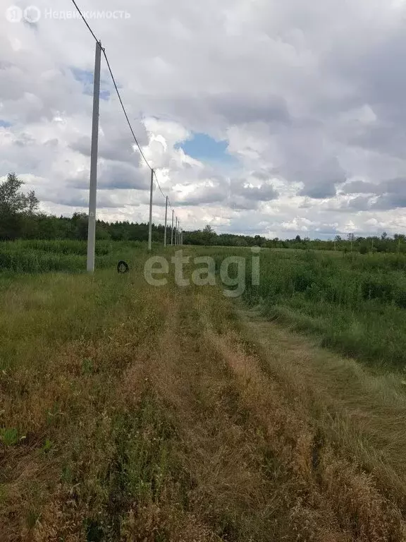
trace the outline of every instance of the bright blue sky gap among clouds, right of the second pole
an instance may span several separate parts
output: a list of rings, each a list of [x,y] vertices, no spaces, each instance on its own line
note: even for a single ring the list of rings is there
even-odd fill
[[[202,162],[235,164],[237,159],[228,154],[227,141],[216,141],[207,133],[193,133],[192,139],[177,143],[176,148],[183,149],[185,154]]]

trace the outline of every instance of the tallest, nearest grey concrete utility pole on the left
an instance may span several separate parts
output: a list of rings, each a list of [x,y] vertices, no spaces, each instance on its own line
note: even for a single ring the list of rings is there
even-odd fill
[[[96,43],[93,83],[92,150],[90,154],[89,218],[87,222],[87,272],[94,272],[94,246],[96,244],[97,205],[97,152],[99,148],[101,42]]]

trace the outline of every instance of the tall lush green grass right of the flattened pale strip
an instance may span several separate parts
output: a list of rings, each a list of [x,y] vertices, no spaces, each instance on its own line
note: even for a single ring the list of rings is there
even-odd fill
[[[219,270],[229,248],[199,248]],[[406,370],[406,257],[395,254],[263,250],[261,279],[252,285],[246,258],[243,301],[321,345],[389,371]]]

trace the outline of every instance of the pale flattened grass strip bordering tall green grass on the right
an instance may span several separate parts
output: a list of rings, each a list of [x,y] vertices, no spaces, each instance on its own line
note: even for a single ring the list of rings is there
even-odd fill
[[[240,311],[240,318],[242,335],[256,345],[264,370],[405,507],[406,395],[400,375],[373,373],[267,323],[255,311]]]

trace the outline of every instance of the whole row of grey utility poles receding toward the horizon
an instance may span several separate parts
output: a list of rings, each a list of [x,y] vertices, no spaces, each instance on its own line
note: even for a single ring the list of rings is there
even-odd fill
[[[90,155],[90,191],[89,191],[89,223],[87,229],[87,272],[94,272],[94,247],[96,244],[96,210],[97,210],[97,153],[99,147],[99,106],[100,106],[100,68],[101,68],[101,42],[96,42],[96,56],[94,61],[93,84],[93,118],[92,118],[92,150]],[[148,164],[149,165],[149,164]],[[151,169],[151,192],[149,195],[149,231],[148,250],[152,250],[152,197],[154,193],[154,169]],[[176,218],[175,227],[173,219]],[[166,247],[168,219],[168,196],[165,206],[165,234]],[[183,230],[178,217],[172,210],[171,245],[183,245]]]

